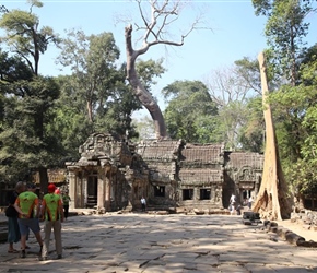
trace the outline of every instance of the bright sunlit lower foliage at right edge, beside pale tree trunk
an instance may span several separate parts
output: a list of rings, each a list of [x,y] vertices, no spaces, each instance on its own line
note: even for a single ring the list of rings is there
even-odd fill
[[[317,61],[304,63],[298,86],[283,86],[270,97],[285,176],[301,193],[317,193]],[[307,84],[308,83],[308,84]]]

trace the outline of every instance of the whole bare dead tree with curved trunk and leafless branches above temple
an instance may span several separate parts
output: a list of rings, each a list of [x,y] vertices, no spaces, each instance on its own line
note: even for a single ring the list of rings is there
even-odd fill
[[[140,15],[144,26],[140,27],[137,25],[137,28],[144,32],[142,38],[142,47],[140,49],[133,49],[132,47],[132,25],[128,25],[125,28],[126,37],[126,52],[127,52],[127,80],[131,84],[136,95],[140,99],[141,104],[149,110],[155,128],[156,139],[167,139],[167,132],[165,127],[165,121],[160,109],[160,106],[152,97],[151,93],[144,87],[136,70],[136,60],[140,55],[145,54],[150,47],[163,44],[167,46],[183,46],[184,39],[197,28],[199,20],[197,20],[186,34],[181,35],[179,41],[173,41],[166,38],[167,32],[166,27],[169,26],[173,22],[178,19],[178,12],[181,8],[181,1],[158,1],[158,0],[149,0],[151,7],[151,14],[146,17],[145,13],[142,10],[141,0],[136,0],[139,5]]]

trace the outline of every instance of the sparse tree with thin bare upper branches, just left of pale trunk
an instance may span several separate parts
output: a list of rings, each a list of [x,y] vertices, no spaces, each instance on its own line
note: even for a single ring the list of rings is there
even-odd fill
[[[213,70],[207,80],[211,97],[219,108],[219,141],[223,141],[228,150],[242,149],[239,140],[250,117],[254,117],[249,115],[247,104],[251,97],[258,95],[259,80],[258,62],[246,57],[230,68]],[[256,135],[258,133],[256,132]],[[247,135],[251,134],[244,133],[245,143]]]

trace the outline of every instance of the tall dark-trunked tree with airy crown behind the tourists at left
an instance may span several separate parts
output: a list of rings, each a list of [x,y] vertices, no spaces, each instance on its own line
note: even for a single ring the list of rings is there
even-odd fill
[[[51,106],[50,98],[56,99],[58,91],[51,79],[39,76],[39,60],[50,43],[58,43],[58,36],[48,26],[39,28],[39,19],[33,13],[33,8],[40,8],[43,3],[38,0],[28,2],[31,3],[28,12],[15,9],[2,14],[0,27],[4,31],[4,36],[1,40],[9,47],[11,54],[19,56],[32,71],[31,82],[16,82],[15,86],[11,86],[11,92],[16,92],[15,95],[26,103],[26,108],[33,106],[25,111],[25,119],[33,120],[34,136],[42,143],[38,147],[47,154],[46,115],[49,111],[48,107]],[[48,183],[48,162],[43,158],[37,163],[40,187],[44,191]]]

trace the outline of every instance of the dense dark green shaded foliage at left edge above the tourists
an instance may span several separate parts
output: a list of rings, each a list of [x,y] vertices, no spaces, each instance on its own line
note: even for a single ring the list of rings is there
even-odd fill
[[[51,119],[49,109],[59,94],[52,79],[21,80],[10,87],[20,90],[23,95],[3,99],[0,177],[7,181],[24,179],[31,169],[51,165],[59,151],[57,139],[46,127]]]

